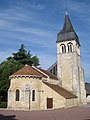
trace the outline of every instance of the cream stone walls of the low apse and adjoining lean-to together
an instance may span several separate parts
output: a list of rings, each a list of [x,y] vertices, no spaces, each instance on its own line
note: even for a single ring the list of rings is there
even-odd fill
[[[51,81],[57,84],[57,81],[50,79],[49,82]],[[16,101],[16,89],[20,91],[19,101]],[[32,90],[35,90],[35,101],[32,101]],[[16,77],[11,79],[8,90],[8,109],[46,110],[47,98],[53,99],[52,109],[76,106],[75,100],[67,100],[39,78]]]

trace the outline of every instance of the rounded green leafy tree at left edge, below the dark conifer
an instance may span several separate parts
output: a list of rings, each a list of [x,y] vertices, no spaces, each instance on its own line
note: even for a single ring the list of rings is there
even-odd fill
[[[9,76],[16,72],[18,69],[23,67],[23,64],[20,64],[13,58],[4,61],[0,64],[0,92],[6,92],[9,88]]]

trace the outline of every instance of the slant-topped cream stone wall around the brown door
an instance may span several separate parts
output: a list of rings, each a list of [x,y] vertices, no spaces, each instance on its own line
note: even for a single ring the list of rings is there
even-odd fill
[[[42,83],[41,109],[47,109],[47,98],[53,98],[53,109],[65,108],[66,99]]]

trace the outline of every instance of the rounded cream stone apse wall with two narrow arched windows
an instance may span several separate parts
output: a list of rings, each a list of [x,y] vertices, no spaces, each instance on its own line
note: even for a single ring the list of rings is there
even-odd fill
[[[41,81],[36,78],[16,77],[11,79],[8,90],[8,108],[10,109],[40,109]],[[16,101],[16,89],[20,90],[20,101]],[[35,101],[32,101],[32,90],[35,90]],[[30,99],[29,99],[30,96]]]

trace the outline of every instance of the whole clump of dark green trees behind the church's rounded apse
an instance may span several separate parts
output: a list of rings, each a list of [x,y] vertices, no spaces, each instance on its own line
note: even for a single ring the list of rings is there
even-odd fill
[[[18,52],[13,53],[13,56],[8,57],[6,61],[0,64],[0,96],[4,95],[3,97],[6,98],[5,95],[7,94],[10,81],[9,76],[22,68],[25,64],[38,66],[39,58],[32,56],[30,50],[27,52],[24,44],[21,44]]]

